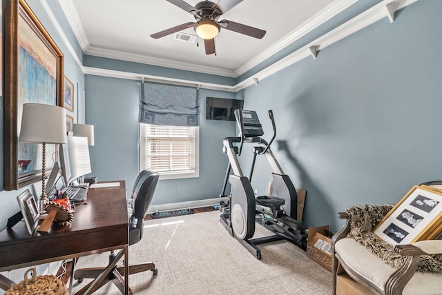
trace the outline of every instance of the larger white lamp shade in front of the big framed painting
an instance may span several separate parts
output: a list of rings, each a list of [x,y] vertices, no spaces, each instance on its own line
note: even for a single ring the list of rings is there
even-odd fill
[[[23,104],[21,143],[66,143],[66,110],[57,105]]]

